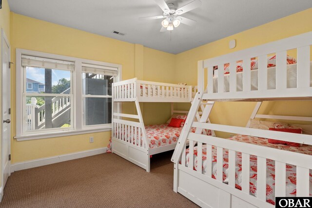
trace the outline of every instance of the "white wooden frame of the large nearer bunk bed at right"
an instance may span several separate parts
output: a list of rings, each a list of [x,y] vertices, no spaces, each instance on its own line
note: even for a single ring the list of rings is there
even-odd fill
[[[236,127],[193,122],[202,100],[256,101],[251,118],[286,119],[312,122],[311,117],[259,115],[260,101],[264,100],[312,100],[310,85],[310,45],[312,32],[287,39],[266,43],[249,49],[237,51],[220,57],[198,62],[198,92],[188,114],[172,157],[174,162],[174,191],[179,192],[201,207],[236,208],[260,207],[273,208],[266,202],[266,159],[275,161],[275,197],[286,195],[286,164],[296,166],[296,196],[309,197],[309,170],[312,169],[312,156],[285,151],[266,146],[226,140],[218,137],[191,133],[191,127],[213,129],[234,134],[243,134],[263,138],[312,145],[312,135],[292,134],[262,129]],[[286,51],[297,49],[297,87],[287,88]],[[276,53],[276,89],[267,89],[267,55]],[[243,91],[236,91],[236,61],[243,60],[244,66],[258,57],[258,90],[251,90],[251,70],[243,70]],[[213,66],[223,69],[230,63],[230,91],[223,92],[224,74],[218,70],[218,92],[213,91]],[[204,91],[204,70],[208,68],[207,91]],[[248,69],[248,67],[246,67]],[[186,143],[189,142],[190,162],[185,166]],[[194,146],[197,143],[197,158],[202,157],[202,146],[207,145],[207,174],[202,168],[193,170]],[[216,179],[212,178],[212,146],[217,147]],[[223,149],[229,150],[228,184],[222,182]],[[210,153],[209,153],[210,152]],[[242,190],[235,188],[235,153],[242,153]],[[257,156],[257,197],[250,195],[250,155]],[[181,164],[179,162],[181,161]],[[183,164],[183,165],[182,165]],[[197,166],[202,166],[198,160]]]

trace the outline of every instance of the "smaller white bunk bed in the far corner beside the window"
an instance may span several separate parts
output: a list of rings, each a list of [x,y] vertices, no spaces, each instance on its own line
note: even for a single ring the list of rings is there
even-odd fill
[[[150,172],[150,157],[154,154],[175,149],[182,127],[168,124],[145,126],[140,102],[172,103],[171,114],[189,111],[174,110],[173,103],[190,103],[196,87],[184,84],[157,83],[137,78],[113,83],[112,152]],[[121,113],[121,102],[134,102],[137,114]],[[209,122],[208,115],[214,102],[200,104],[196,118]],[[196,129],[193,128],[195,132]],[[214,131],[202,131],[215,135]]]

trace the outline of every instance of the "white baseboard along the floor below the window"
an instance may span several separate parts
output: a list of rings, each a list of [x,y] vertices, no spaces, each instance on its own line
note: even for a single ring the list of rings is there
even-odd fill
[[[88,157],[92,155],[98,155],[98,154],[105,153],[106,149],[107,149],[106,147],[103,147],[103,148],[98,148],[98,149],[91,149],[91,150],[64,154],[64,155],[59,155],[59,156],[54,156],[54,157],[40,158],[37,160],[29,160],[29,161],[25,161],[21,163],[15,163],[11,165],[11,172],[33,168],[33,167],[45,166],[45,165],[59,163],[59,162],[68,161],[68,160],[74,160],[74,159]]]

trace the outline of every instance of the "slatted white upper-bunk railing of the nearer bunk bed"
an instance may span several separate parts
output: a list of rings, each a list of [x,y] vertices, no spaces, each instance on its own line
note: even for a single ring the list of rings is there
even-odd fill
[[[312,32],[293,36],[275,42],[255,46],[245,50],[198,62],[198,91],[204,93],[203,99],[266,99],[312,97],[310,72],[310,45]],[[297,84],[295,88],[287,88],[287,50],[297,50]],[[276,54],[276,87],[268,89],[267,56]],[[258,59],[258,87],[251,89],[251,59]],[[236,61],[243,60],[242,91],[236,90]],[[229,92],[224,92],[224,64],[230,64]],[[218,66],[217,90],[214,92],[214,66]],[[208,70],[207,86],[204,86],[205,70]],[[204,89],[207,89],[205,91]]]

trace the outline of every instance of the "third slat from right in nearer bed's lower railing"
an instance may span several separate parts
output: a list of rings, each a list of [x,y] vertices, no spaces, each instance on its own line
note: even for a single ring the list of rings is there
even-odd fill
[[[267,159],[257,157],[257,198],[266,201],[267,198]]]

